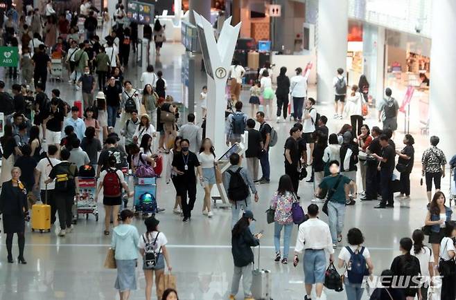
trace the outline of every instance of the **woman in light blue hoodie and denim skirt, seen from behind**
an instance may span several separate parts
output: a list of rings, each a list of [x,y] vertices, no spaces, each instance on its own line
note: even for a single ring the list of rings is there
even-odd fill
[[[122,176],[123,177],[123,176]],[[111,248],[115,252],[117,279],[114,287],[119,290],[121,300],[130,299],[130,290],[136,290],[136,265],[138,259],[138,230],[132,224],[134,212],[121,212],[121,225],[114,227]],[[116,218],[114,218],[116,220]],[[108,221],[109,222],[109,221]]]

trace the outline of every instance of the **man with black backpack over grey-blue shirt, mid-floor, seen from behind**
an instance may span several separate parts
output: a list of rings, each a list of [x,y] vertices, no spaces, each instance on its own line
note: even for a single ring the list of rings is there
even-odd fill
[[[241,209],[244,211],[247,209],[252,210],[249,188],[254,194],[255,202],[258,202],[258,192],[254,182],[247,170],[240,167],[241,162],[238,153],[231,154],[229,156],[229,164],[231,166],[225,171],[223,176],[223,185],[231,203],[231,228],[238,222]]]

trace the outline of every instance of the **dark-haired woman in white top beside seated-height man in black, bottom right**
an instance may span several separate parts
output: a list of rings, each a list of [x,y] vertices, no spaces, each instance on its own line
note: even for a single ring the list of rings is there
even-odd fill
[[[430,247],[423,245],[424,234],[421,229],[416,229],[412,234],[413,252],[411,254],[416,256],[419,260],[421,270],[421,295],[428,295],[428,286],[430,285],[430,278],[434,276],[434,256]],[[425,299],[425,298],[423,298]]]

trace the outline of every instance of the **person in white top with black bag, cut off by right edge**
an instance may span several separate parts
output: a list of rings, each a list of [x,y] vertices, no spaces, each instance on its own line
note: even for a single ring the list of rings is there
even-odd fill
[[[445,227],[445,236],[442,238],[440,242],[440,261],[439,261],[439,270],[444,263],[444,261],[450,261],[451,259],[455,259],[456,249],[455,244],[453,242],[453,238],[456,237],[456,227],[453,221],[446,222]],[[455,262],[453,261],[453,264]],[[441,273],[441,272],[440,272]],[[440,274],[442,275],[442,274]],[[455,285],[456,275],[450,276],[443,276],[441,279],[441,300],[453,300],[456,299],[456,285]]]

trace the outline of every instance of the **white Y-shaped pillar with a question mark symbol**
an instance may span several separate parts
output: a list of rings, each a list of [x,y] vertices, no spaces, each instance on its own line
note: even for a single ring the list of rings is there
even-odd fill
[[[225,86],[227,85],[234,47],[238,40],[240,23],[231,26],[231,17],[226,19],[218,41],[216,41],[211,23],[194,10],[193,15],[207,73],[206,136],[212,140],[218,153],[223,153],[223,149],[226,148],[225,106],[227,100]]]

